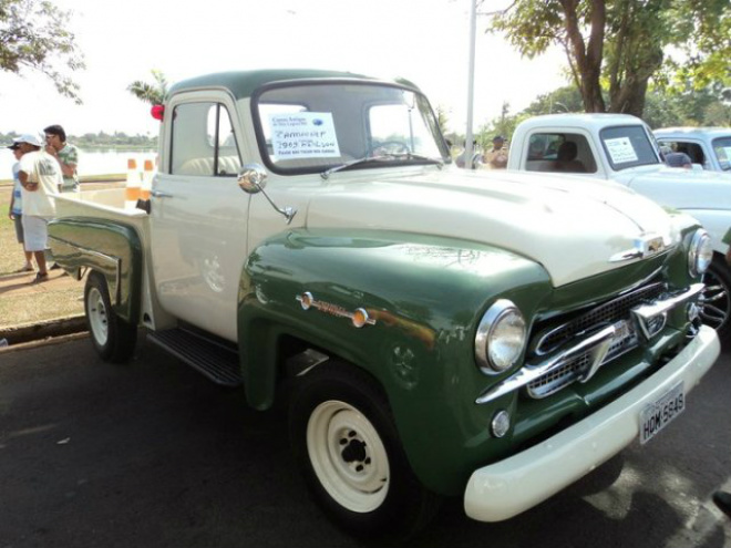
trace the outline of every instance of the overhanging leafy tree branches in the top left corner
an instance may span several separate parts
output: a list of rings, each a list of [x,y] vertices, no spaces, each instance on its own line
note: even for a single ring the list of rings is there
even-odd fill
[[[73,71],[85,68],[69,30],[71,12],[40,0],[0,0],[0,70],[45,74],[62,95],[81,104],[79,85],[63,74],[58,61]]]

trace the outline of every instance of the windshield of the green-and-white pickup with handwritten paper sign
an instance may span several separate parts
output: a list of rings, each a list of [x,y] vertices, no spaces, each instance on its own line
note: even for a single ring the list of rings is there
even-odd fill
[[[369,82],[276,85],[253,97],[259,149],[279,173],[446,162],[434,113],[419,92]],[[354,162],[378,158],[379,162]]]

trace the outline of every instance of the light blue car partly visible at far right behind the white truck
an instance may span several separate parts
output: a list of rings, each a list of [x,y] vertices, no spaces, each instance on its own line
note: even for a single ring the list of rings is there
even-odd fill
[[[656,130],[655,136],[703,169],[731,173],[731,127],[666,127]]]

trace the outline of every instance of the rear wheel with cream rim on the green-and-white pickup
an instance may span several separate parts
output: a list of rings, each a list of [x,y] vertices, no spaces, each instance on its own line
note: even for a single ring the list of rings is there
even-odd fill
[[[91,272],[86,279],[84,311],[92,344],[102,360],[128,361],[137,342],[137,328],[116,316],[106,280],[99,272]]]

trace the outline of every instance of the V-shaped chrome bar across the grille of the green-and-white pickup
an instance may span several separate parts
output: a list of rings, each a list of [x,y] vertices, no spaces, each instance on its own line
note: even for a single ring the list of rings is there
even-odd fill
[[[508,376],[500,384],[496,384],[495,386],[492,386],[491,389],[480,394],[480,396],[475,400],[475,403],[480,405],[490,403],[493,400],[496,400],[509,392],[521,389],[526,384],[535,381],[536,379],[539,379],[540,376],[560,368],[568,360],[572,360],[573,358],[589,350],[595,351],[594,361],[596,361],[597,358],[604,360],[616,332],[617,329],[615,325],[606,327],[601,331],[586,337],[578,343],[568,348],[566,351],[560,352],[558,355],[555,355],[545,362],[538,363],[536,365],[528,364],[522,368],[514,375]],[[598,362],[601,363],[600,360],[598,360]],[[596,372],[596,369],[598,369],[596,363],[593,363],[591,368],[589,368],[589,370],[593,370],[594,372]]]

